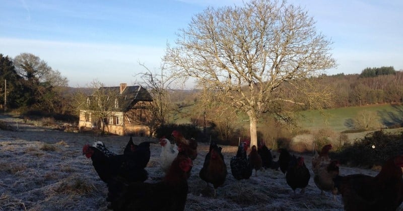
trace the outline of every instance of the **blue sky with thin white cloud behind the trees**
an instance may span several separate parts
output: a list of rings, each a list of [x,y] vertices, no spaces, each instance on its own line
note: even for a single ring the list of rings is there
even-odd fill
[[[54,1],[0,0],[0,53],[32,53],[68,77],[73,87],[94,79],[105,85],[135,83],[139,61],[158,69],[178,29],[208,6],[241,0]],[[366,67],[403,70],[403,1],[293,0],[334,43],[338,67],[328,74]],[[187,88],[191,88],[188,84]]]

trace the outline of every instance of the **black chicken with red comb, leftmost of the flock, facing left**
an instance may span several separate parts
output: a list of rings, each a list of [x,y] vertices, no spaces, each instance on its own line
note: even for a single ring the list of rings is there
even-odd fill
[[[148,178],[148,172],[144,167],[128,155],[107,157],[98,148],[88,144],[84,145],[83,154],[91,158],[99,178],[107,184],[117,176],[128,181],[145,181]]]

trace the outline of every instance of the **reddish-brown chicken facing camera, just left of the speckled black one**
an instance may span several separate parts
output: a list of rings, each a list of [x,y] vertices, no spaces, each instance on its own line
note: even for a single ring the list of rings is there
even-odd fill
[[[221,153],[222,148],[212,141],[210,143],[210,151],[207,153],[203,168],[200,169],[199,176],[201,179],[214,186],[214,196],[216,189],[224,184],[227,178],[227,165],[224,162],[224,156]]]

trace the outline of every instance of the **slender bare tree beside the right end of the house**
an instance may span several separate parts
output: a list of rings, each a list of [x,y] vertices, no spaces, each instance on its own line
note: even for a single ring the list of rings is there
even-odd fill
[[[172,77],[166,75],[166,69],[164,64],[160,67],[160,73],[156,70],[151,71],[144,63],[139,63],[146,69],[146,72],[136,74],[142,79],[143,87],[147,88],[153,97],[151,102],[151,112],[153,119],[149,122],[150,130],[154,134],[155,130],[164,126],[167,121],[167,117],[172,111],[170,89],[173,82]]]

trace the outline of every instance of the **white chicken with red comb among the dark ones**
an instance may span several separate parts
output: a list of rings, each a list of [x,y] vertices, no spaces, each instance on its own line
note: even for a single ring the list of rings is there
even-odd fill
[[[172,161],[178,155],[179,152],[178,146],[171,144],[171,142],[166,138],[160,139],[160,145],[161,145],[161,154],[160,154],[161,169],[165,173],[167,173],[169,167],[172,164]]]

